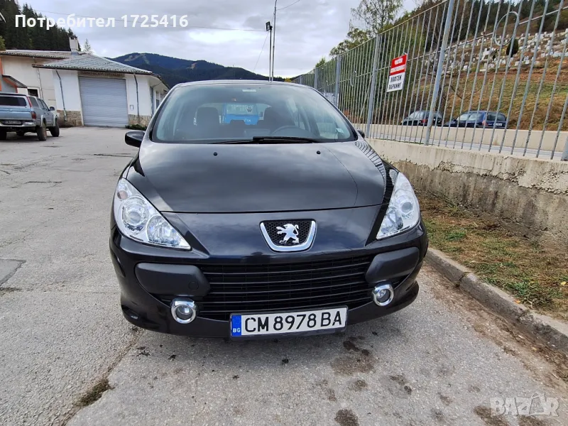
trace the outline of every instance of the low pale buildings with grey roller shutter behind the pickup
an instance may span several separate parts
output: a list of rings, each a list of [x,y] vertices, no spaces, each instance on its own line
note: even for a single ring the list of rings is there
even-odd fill
[[[168,92],[150,71],[76,50],[6,50],[0,61],[1,91],[42,98],[60,124],[146,126]]]

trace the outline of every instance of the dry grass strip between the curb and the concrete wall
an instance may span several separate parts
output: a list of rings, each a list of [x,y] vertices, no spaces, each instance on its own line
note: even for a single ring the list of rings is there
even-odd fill
[[[568,320],[568,254],[540,244],[442,197],[420,193],[432,247],[519,302]]]

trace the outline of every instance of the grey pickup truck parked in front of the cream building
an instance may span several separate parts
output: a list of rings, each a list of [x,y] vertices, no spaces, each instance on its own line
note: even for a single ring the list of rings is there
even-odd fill
[[[43,100],[26,94],[0,94],[0,141],[6,141],[6,133],[15,131],[18,136],[28,132],[38,135],[39,141],[59,136],[58,116],[55,108],[49,108]]]

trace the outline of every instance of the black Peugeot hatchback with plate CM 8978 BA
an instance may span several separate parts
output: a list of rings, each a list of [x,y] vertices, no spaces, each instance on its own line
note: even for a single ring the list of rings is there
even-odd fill
[[[223,119],[228,104],[263,119]],[[110,249],[138,327],[330,333],[417,297],[427,235],[413,188],[315,89],[179,84],[126,143],[139,151],[114,192]]]

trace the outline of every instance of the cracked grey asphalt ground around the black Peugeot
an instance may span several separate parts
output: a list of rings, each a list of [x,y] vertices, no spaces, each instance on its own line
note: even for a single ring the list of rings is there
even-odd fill
[[[133,329],[107,246],[133,148],[121,129],[61,134],[0,142],[1,425],[568,424],[550,354],[427,267],[417,302],[346,334],[226,342]],[[102,398],[78,405],[105,378]],[[490,398],[536,393],[559,398],[559,417],[491,416]]]

